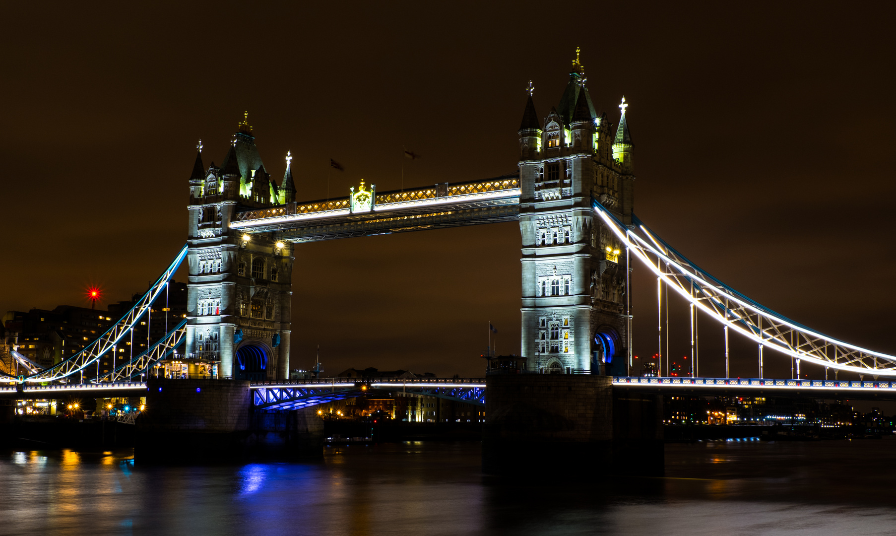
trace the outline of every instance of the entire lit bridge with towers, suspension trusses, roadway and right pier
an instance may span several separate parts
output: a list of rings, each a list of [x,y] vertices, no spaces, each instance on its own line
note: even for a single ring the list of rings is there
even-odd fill
[[[650,419],[657,415],[655,402],[662,393],[774,390],[819,396],[847,393],[853,398],[889,398],[888,393],[896,393],[896,381],[890,381],[896,379],[896,356],[840,341],[762,306],[702,270],[635,215],[634,144],[626,118],[628,103],[621,100],[615,124],[595,110],[577,54],[564,94],[547,116],[538,114],[531,88],[528,91],[517,131],[516,172],[387,192],[362,182],[348,195],[306,202],[296,199],[289,153],[282,179],[273,179],[244,117],[220,166],[214,162],[206,166],[202,143],[197,146],[187,181],[186,245],[159,280],[81,352],[28,376],[7,376],[18,385],[0,389],[0,397],[124,393],[136,388],[149,389],[164,404],[168,402],[160,398],[162,386],[156,392],[152,384],[163,380],[147,378],[166,359],[185,364],[190,374],[200,367],[211,371],[216,380],[197,386],[195,393],[217,393],[219,398],[213,400],[230,404],[231,416],[241,411],[231,402],[242,398],[251,399],[263,413],[357,396],[364,389],[394,389],[396,385],[341,380],[289,381],[292,268],[301,245],[506,221],[517,221],[521,232],[521,356],[527,363],[523,372],[529,374],[489,376],[475,385],[453,385],[449,379],[401,385],[414,393],[487,402],[492,431],[486,439],[493,454],[513,451],[524,458],[558,437],[575,445],[590,445],[595,437],[612,440],[614,456],[626,449],[642,452],[616,440],[643,439],[655,446],[656,423],[650,424]],[[631,376],[633,260],[657,277],[659,291],[665,284],[667,291],[687,302],[693,364],[685,371],[687,377],[668,377],[668,365],[665,371],[660,365],[663,377]],[[142,354],[101,369],[99,359],[124,344],[134,325],[152,321],[152,303],[167,290],[183,261],[189,272],[185,321],[172,326]],[[730,376],[728,334],[754,341],[756,377],[700,376],[694,337],[698,312],[725,332],[726,376]],[[773,359],[789,359],[797,377],[800,362],[807,361],[833,370],[834,379],[765,378],[763,349],[776,350]],[[840,381],[840,370],[855,373],[860,380]],[[225,379],[244,381],[217,381]],[[621,392],[633,394],[614,394]],[[202,411],[202,403],[211,403],[189,396],[193,395],[183,392],[177,400],[198,404],[197,411]],[[545,407],[535,408],[533,401]],[[573,415],[570,404],[589,409]],[[533,415],[540,416],[534,422],[543,429],[521,425]],[[237,417],[233,419],[228,426],[237,426],[233,424]],[[638,432],[625,424],[632,422],[646,428]],[[152,426],[166,425],[157,421]],[[515,441],[529,446],[516,448]],[[504,462],[515,463],[508,460]]]

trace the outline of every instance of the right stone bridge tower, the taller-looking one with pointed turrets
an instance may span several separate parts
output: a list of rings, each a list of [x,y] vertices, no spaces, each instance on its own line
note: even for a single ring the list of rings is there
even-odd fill
[[[543,373],[623,374],[631,346],[625,248],[592,199],[632,223],[633,143],[594,110],[579,50],[563,97],[520,125],[521,353]]]

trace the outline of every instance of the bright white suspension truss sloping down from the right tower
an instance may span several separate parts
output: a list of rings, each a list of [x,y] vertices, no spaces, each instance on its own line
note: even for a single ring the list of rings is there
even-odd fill
[[[705,272],[632,216],[626,227],[598,202],[592,203],[607,227],[625,243],[630,253],[669,288],[720,324],[745,335],[763,347],[823,367],[859,374],[896,376],[896,356],[866,350],[849,342],[818,333],[747,298]]]

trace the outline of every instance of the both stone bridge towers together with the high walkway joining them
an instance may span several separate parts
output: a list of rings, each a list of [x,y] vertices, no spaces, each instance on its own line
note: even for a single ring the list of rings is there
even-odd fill
[[[287,157],[278,185],[247,117],[220,167],[190,176],[185,359],[218,377],[289,377],[293,247],[307,241],[518,221],[521,354],[546,374],[625,372],[631,347],[628,265],[595,218],[601,203],[631,225],[632,141],[622,117],[598,116],[578,56],[563,97],[543,119],[531,90],[519,130],[519,172],[461,183],[297,203]]]

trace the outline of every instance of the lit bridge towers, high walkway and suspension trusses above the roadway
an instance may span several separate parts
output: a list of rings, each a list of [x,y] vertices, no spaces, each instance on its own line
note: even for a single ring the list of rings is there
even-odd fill
[[[547,116],[528,91],[517,136],[517,171],[502,177],[379,192],[363,182],[349,195],[296,199],[292,157],[275,180],[248,117],[221,165],[197,145],[188,179],[187,243],[125,316],[70,359],[15,378],[25,384],[116,383],[145,379],[160,360],[207,365],[212,376],[283,381],[289,376],[292,267],[305,242],[517,221],[521,231],[521,356],[527,372],[628,376],[632,370],[632,260],[728,332],[763,349],[833,371],[896,376],[896,357],[818,333],[745,297],[676,251],[633,212],[634,144],[626,118],[597,113],[577,59]],[[149,320],[151,304],[188,265],[187,316],[138,356],[100,370]],[[694,355],[692,327],[692,357]],[[177,353],[176,353],[177,352]],[[697,359],[685,371],[700,376]],[[23,366],[31,364],[23,363]],[[728,347],[726,345],[726,370]],[[660,373],[663,372],[660,367]],[[666,367],[666,375],[669,370]],[[662,376],[662,374],[660,374]],[[798,375],[797,375],[798,376]]]

